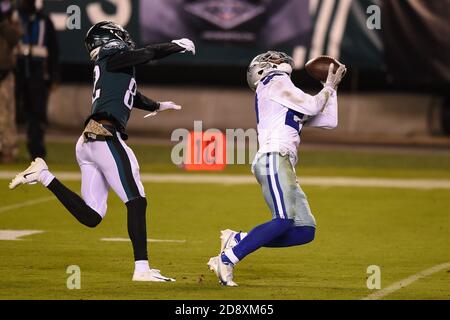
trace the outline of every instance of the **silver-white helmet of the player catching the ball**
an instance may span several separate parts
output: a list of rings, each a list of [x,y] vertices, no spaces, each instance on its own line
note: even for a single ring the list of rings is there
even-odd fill
[[[247,69],[247,83],[256,90],[259,81],[273,71],[281,71],[289,76],[294,68],[294,60],[284,52],[267,51],[257,55]]]

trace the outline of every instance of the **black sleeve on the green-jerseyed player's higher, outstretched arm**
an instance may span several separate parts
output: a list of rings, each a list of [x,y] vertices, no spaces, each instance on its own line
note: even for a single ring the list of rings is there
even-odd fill
[[[108,71],[117,71],[123,68],[145,64],[150,60],[162,59],[183,50],[184,48],[179,45],[169,42],[148,45],[137,50],[121,51],[108,59],[106,68]]]

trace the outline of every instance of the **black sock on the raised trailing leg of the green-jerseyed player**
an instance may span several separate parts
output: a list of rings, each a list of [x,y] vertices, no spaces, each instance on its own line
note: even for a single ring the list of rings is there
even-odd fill
[[[46,177],[49,178],[50,176],[44,175],[43,179],[46,179]],[[40,177],[39,181],[41,181]],[[97,211],[89,207],[79,195],[68,189],[55,177],[53,177],[47,188],[53,192],[63,206],[85,226],[94,228],[102,221],[102,217]]]

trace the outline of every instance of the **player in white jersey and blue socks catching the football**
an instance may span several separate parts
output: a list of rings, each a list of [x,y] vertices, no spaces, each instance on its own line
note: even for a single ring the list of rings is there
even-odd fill
[[[291,81],[293,60],[283,52],[268,51],[253,59],[247,70],[256,91],[255,111],[259,150],[252,172],[261,185],[272,220],[248,233],[221,232],[221,252],[209,268],[223,285],[236,286],[234,266],[261,247],[290,247],[314,239],[316,221],[295,174],[300,132],[304,126],[337,126],[336,89],[346,73],[344,65],[330,65],[323,89],[306,94]]]

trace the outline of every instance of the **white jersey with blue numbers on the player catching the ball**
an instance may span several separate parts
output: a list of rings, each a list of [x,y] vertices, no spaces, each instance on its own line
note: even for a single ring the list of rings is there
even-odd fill
[[[256,158],[280,152],[289,154],[295,165],[303,126],[325,129],[337,126],[336,91],[325,87],[311,96],[297,88],[288,74],[275,71],[259,82],[255,111],[259,143]]]

